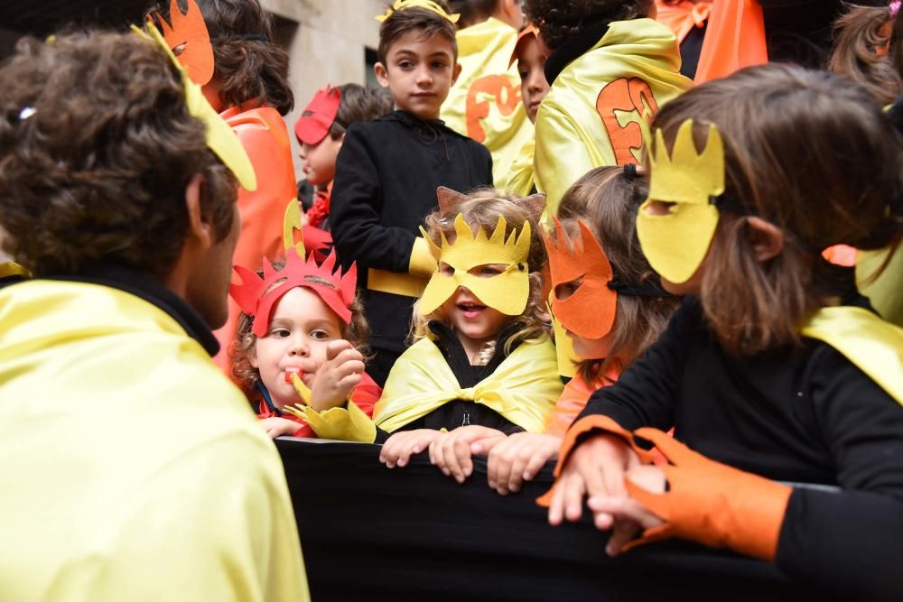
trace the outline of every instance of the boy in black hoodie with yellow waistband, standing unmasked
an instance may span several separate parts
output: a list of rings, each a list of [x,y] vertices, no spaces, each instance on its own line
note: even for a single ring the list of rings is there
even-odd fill
[[[358,262],[372,329],[368,374],[386,381],[405,349],[414,299],[435,269],[418,228],[436,189],[492,185],[489,151],[439,120],[461,71],[454,21],[431,0],[401,0],[379,30],[377,79],[397,110],[349,127],[336,162],[332,235],[342,261]]]

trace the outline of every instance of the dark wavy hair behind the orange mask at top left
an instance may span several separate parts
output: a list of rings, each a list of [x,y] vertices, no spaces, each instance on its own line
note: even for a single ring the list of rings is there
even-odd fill
[[[288,82],[288,53],[274,40],[272,17],[257,0],[195,0],[213,46],[213,78],[222,85],[226,107],[254,100],[286,115],[294,106]],[[184,2],[179,3],[182,10]],[[170,22],[170,0],[158,0],[147,14]],[[259,36],[254,39],[247,36]]]

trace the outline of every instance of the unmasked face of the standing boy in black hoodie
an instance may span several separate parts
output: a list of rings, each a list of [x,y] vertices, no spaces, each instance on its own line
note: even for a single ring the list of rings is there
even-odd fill
[[[380,85],[389,88],[396,107],[428,120],[438,119],[461,65],[452,42],[442,35],[424,40],[423,32],[405,32],[386,53],[386,64],[374,68]]]

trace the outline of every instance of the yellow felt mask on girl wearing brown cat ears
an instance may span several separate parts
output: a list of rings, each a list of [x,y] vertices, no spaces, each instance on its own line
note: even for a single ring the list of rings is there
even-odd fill
[[[507,316],[524,313],[530,292],[530,270],[526,264],[530,252],[530,223],[524,223],[519,236],[517,232],[512,232],[507,240],[506,227],[505,218],[498,216],[498,225],[492,236],[487,236],[483,228],[479,228],[474,236],[459,213],[454,220],[454,243],[449,244],[443,233],[441,248],[434,245],[424,232],[424,237],[430,241],[433,256],[440,264],[447,264],[453,270],[452,273],[442,273],[437,268],[433,272],[420,299],[420,312],[424,316],[439,309],[459,286],[476,295],[481,303]],[[489,264],[503,264],[507,267],[504,272],[489,277],[470,273],[479,265]]]

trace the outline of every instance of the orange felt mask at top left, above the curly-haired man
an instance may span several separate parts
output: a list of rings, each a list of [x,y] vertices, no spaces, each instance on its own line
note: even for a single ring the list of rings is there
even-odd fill
[[[170,23],[166,23],[163,15],[156,14],[156,21],[163,32],[163,39],[173,52],[184,45],[182,52],[176,57],[182,67],[188,71],[188,77],[199,86],[206,86],[213,79],[213,46],[210,45],[210,34],[204,15],[194,0],[185,0],[187,8],[182,14],[177,0],[170,2]],[[148,17],[152,18],[152,17]]]

